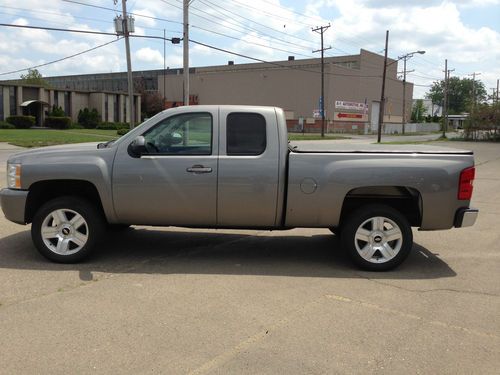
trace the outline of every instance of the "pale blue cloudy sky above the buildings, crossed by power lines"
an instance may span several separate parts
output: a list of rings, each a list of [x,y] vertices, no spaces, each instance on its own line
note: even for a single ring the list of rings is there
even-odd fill
[[[0,22],[113,32],[113,18],[121,1],[75,0],[111,10],[63,0],[0,0]],[[136,34],[181,36],[181,0],[128,0],[135,14]],[[154,18],[160,18],[154,19]],[[168,22],[168,21],[171,22]],[[481,73],[488,92],[500,78],[500,0],[194,0],[191,3],[191,39],[263,60],[318,56],[319,35],[311,31],[331,24],[325,44],[327,55],[357,54],[361,48],[382,52],[385,30],[390,30],[389,56],[415,50],[408,61],[414,69],[408,80],[414,97],[422,97],[433,81],[444,75],[444,60],[454,75]],[[0,26],[0,74],[32,67],[111,42],[113,36],[96,36],[12,29]],[[44,76],[116,72],[126,69],[123,41],[38,68]],[[133,38],[134,70],[163,68],[163,42]],[[167,44],[166,65],[182,66],[182,45]],[[250,60],[191,45],[192,66]],[[17,78],[22,73],[0,75]]]

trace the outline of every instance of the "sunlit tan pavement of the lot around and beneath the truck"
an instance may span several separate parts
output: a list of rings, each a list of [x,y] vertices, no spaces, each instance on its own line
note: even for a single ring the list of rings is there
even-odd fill
[[[1,215],[0,373],[498,374],[500,145],[446,146],[476,153],[478,221],[387,273],[312,229],[135,227],[59,265]]]

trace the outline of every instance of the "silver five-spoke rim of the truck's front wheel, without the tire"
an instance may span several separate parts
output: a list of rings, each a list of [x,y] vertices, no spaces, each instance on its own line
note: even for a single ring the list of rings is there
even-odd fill
[[[77,253],[89,239],[89,226],[83,216],[65,208],[50,212],[40,232],[47,249],[59,255]]]

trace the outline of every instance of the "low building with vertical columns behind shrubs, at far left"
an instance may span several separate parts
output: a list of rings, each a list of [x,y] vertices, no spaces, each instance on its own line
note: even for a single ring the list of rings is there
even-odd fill
[[[42,126],[53,106],[61,107],[74,122],[81,109],[96,109],[101,121],[129,122],[128,95],[124,93],[58,90],[13,81],[0,82],[0,121],[13,115],[31,115]],[[140,122],[141,100],[134,95],[135,122]]]

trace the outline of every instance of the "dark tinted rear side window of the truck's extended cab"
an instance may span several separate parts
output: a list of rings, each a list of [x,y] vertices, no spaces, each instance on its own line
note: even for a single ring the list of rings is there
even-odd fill
[[[260,155],[266,149],[266,120],[258,113],[227,116],[227,155]]]

